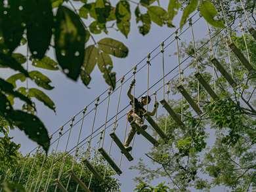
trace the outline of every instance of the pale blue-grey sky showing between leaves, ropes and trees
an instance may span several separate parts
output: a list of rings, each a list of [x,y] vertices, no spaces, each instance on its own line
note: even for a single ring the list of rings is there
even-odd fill
[[[75,3],[75,7],[79,7],[79,3]],[[166,6],[166,5],[164,5]],[[135,9],[135,5],[131,4],[131,10],[133,11]],[[175,18],[174,24],[176,26],[179,26],[179,19],[181,18],[181,12],[179,15]],[[193,18],[193,22],[199,19],[198,15],[196,15]],[[187,25],[184,27],[186,29]],[[95,35],[96,41],[99,39],[102,39],[104,37],[112,37],[114,39],[117,39],[121,42],[123,42],[128,48],[129,48],[129,55],[127,58],[119,59],[112,57],[114,61],[114,71],[117,73],[117,79],[123,77],[123,75],[129,71],[129,69],[132,69],[135,64],[140,62],[142,58],[147,56],[148,52],[153,50],[154,48],[158,47],[158,45],[161,44],[161,42],[166,39],[166,37],[169,37],[174,31],[176,31],[176,28],[166,28],[166,27],[159,27],[156,26],[156,24],[152,24],[152,28],[150,30],[150,33],[146,36],[142,36],[139,33],[139,29],[137,28],[135,18],[133,17],[131,20],[131,32],[129,34],[128,39],[125,39],[125,37],[119,33],[119,31],[110,30],[110,33],[108,35]],[[179,31],[180,32],[180,31]],[[207,37],[207,28],[205,22],[202,20],[202,18],[196,22],[194,25],[194,34],[196,39],[201,39],[204,37]],[[177,60],[177,45],[175,41],[175,36],[171,36],[171,38],[167,39],[165,46],[168,45],[168,47],[165,49],[164,56],[156,54],[161,50],[160,47],[158,47],[155,52],[152,53],[152,57],[156,56],[154,60],[151,62],[150,70],[149,70],[149,85],[154,85],[154,83],[158,82],[161,77],[163,77],[163,69],[162,69],[162,60],[164,58],[165,62],[165,74],[169,73],[172,69],[174,69],[169,75],[165,77],[165,83],[171,79],[172,77],[175,77],[175,75],[178,74],[178,60]],[[181,37],[182,41],[189,42],[192,38],[192,33],[190,29],[185,31]],[[90,43],[89,43],[90,44]],[[23,54],[26,54],[26,47],[22,47],[17,50],[17,52],[22,52]],[[47,53],[48,56],[54,58],[53,50],[49,50]],[[186,64],[189,63],[190,60],[187,60],[182,65],[186,66]],[[138,69],[146,64],[146,60],[143,60],[143,62],[139,65]],[[183,67],[182,66],[182,67]],[[176,67],[176,68],[175,68]],[[30,65],[30,70],[35,69]],[[37,68],[38,69],[38,68]],[[52,85],[54,86],[54,89],[51,91],[45,90],[45,93],[47,93],[52,100],[55,103],[56,106],[56,114],[48,109],[47,107],[43,106],[43,104],[36,102],[37,105],[37,115],[40,117],[40,119],[45,123],[45,126],[49,130],[49,134],[54,132],[57,128],[60,128],[60,126],[64,125],[67,121],[69,121],[77,112],[81,111],[81,109],[84,109],[85,106],[87,106],[89,103],[91,103],[93,100],[95,100],[96,96],[98,96],[100,93],[102,93],[104,90],[108,88],[108,85],[104,82],[104,79],[102,77],[102,74],[98,70],[97,67],[95,67],[93,73],[91,74],[92,81],[89,85],[90,88],[87,88],[81,83],[81,81],[74,82],[64,75],[64,73],[60,71],[47,71],[44,69],[40,69],[43,73],[47,74],[47,76],[53,81]],[[191,70],[188,71],[188,73],[191,73]],[[1,74],[3,77],[8,77],[12,74],[12,71],[6,71],[5,74]],[[129,73],[127,76],[125,76],[125,80],[127,80],[127,83],[123,85],[122,92],[121,92],[121,102],[119,106],[119,111],[123,109],[123,111],[117,116],[117,118],[121,117],[122,115],[125,115],[125,113],[128,111],[129,108],[125,108],[127,104],[129,104],[129,100],[126,96],[127,90],[129,88],[129,84],[131,83],[131,79],[128,79],[131,77],[131,73]],[[147,89],[147,66],[143,67],[137,74],[136,74],[136,85],[135,85],[135,95],[140,96],[140,94],[143,94],[143,92]],[[23,85],[24,83],[19,83],[19,85]],[[117,83],[117,87],[120,84]],[[156,90],[160,89],[163,85],[163,81],[161,80],[160,83],[158,83],[156,86],[151,88],[149,90],[149,94],[153,94]],[[35,85],[32,82],[29,82],[29,87],[34,87]],[[166,89],[166,87],[165,87]],[[107,119],[112,119],[110,123],[107,124],[107,126],[110,126],[106,130],[106,137],[104,142],[104,149],[106,151],[110,147],[111,138],[109,136],[111,129],[113,126],[111,126],[111,123],[114,122],[116,111],[117,111],[117,101],[119,97],[119,89],[117,89],[111,96],[110,96],[110,108]],[[163,99],[163,91],[160,89],[157,94],[158,101]],[[104,100],[106,98],[107,94],[104,94],[100,97],[100,104],[97,109],[96,113],[96,121],[94,130],[97,130],[100,128],[102,130],[102,125],[104,125],[105,119],[106,119],[106,106],[107,106],[107,100]],[[178,96],[179,97],[179,96]],[[154,100],[154,98],[152,98]],[[90,111],[93,109],[93,105],[88,107],[87,111]],[[152,110],[153,104],[150,104],[148,106],[149,110]],[[124,109],[125,108],[125,109]],[[91,130],[93,127],[93,119],[94,119],[94,113],[95,111],[89,113],[84,119],[83,123],[83,130],[81,134],[81,140],[84,138],[87,138],[91,134]],[[165,111],[160,107],[158,111],[158,115],[165,114]],[[68,143],[67,151],[72,149],[75,144],[77,143],[79,128],[81,126],[81,113],[75,117],[75,123],[77,123],[72,128],[72,133],[70,137],[70,142]],[[64,130],[67,130],[69,128],[69,124],[64,126]],[[125,125],[126,120],[125,117],[123,117],[120,121],[117,122],[117,136],[121,140],[123,140],[124,132],[125,132]],[[104,126],[103,126],[104,127]],[[129,128],[129,127],[128,127]],[[60,140],[60,145],[58,147],[58,151],[64,151],[67,141],[67,135],[64,135]],[[21,132],[20,130],[12,130],[11,136],[14,137],[14,142],[21,144],[20,151],[24,154],[29,153],[32,149],[34,149],[37,145],[29,140],[24,132]],[[53,137],[53,140],[56,139],[56,135]],[[81,141],[80,140],[80,141]],[[93,146],[97,147],[98,142],[98,136],[96,136],[93,139]],[[84,144],[84,143],[82,143]],[[54,149],[56,145],[54,144],[53,147],[51,147],[50,151]],[[145,159],[146,162],[148,162],[149,166],[158,166],[150,163],[149,159],[144,155],[147,151],[150,150],[152,147],[151,144],[148,143],[142,136],[136,136],[135,138],[135,144],[133,147],[133,157],[134,161],[128,162],[126,159],[123,159],[123,162],[121,164],[121,169],[123,170],[123,174],[121,176],[117,176],[119,181],[121,182],[121,191],[128,192],[131,191],[131,189],[135,188],[136,183],[133,182],[133,178],[137,175],[137,172],[135,170],[129,170],[129,167],[136,165],[140,158]],[[82,149],[82,148],[81,148]],[[120,159],[120,151],[116,147],[116,145],[113,145],[112,147],[112,153],[111,157],[119,163]],[[156,180],[153,182],[153,184],[156,184],[158,182],[164,181],[160,178],[160,180]]]

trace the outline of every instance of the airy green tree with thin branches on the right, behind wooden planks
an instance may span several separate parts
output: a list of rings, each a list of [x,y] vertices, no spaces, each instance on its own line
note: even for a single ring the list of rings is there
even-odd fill
[[[243,36],[232,36],[240,50],[246,54]],[[245,35],[251,65],[256,69],[255,39]],[[204,41],[197,42],[202,45]],[[215,42],[214,42],[215,43]],[[203,52],[203,51],[202,51]],[[192,43],[183,44],[181,55],[194,53]],[[199,53],[198,53],[199,54]],[[211,52],[203,53],[198,58],[200,73],[214,87],[213,75],[209,73]],[[226,47],[218,43],[215,56],[221,64],[229,69],[226,63]],[[158,125],[167,130],[168,144],[152,148],[136,168],[140,175],[138,182],[150,183],[156,178],[165,178],[170,190],[190,191],[203,189],[208,191],[214,187],[226,186],[230,191],[253,191],[256,189],[256,98],[255,71],[247,71],[231,54],[233,77],[238,83],[234,90],[226,83],[224,77],[217,75],[216,92],[219,99],[213,100],[200,85],[200,106],[203,115],[192,113],[188,103],[183,100],[169,100],[169,104],[181,115],[184,127],[177,125],[171,116],[162,115]],[[195,67],[195,62],[192,67]],[[177,94],[178,81],[172,83],[173,94]],[[184,87],[197,102],[198,81],[194,74],[184,77]],[[166,123],[166,124],[165,124]],[[148,166],[148,160],[159,165],[156,169]],[[146,184],[145,184],[146,185]]]

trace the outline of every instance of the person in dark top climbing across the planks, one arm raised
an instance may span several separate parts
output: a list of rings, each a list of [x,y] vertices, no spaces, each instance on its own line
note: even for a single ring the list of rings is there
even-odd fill
[[[144,115],[144,113],[147,112],[148,115],[154,116],[156,114],[156,110],[158,109],[159,104],[158,104],[158,102],[155,102],[154,109],[152,112],[146,111],[146,109],[144,109],[144,106],[146,106],[147,104],[150,104],[151,98],[150,98],[150,96],[142,96],[141,100],[139,102],[139,100],[131,94],[131,90],[133,89],[134,85],[135,85],[135,80],[133,80],[131,82],[131,85],[127,92],[127,96],[131,100],[130,105],[133,107],[133,109],[131,109],[127,113],[127,120],[129,121],[129,123],[131,123],[132,121],[135,121],[135,123],[137,123],[137,125],[139,125],[142,129],[146,130],[146,128],[148,128],[148,126],[144,125],[143,115]],[[134,104],[133,104],[133,102],[134,102]],[[131,130],[129,131],[129,134],[128,134],[128,136],[125,140],[125,144],[124,144],[127,151],[131,151],[131,149],[132,149],[132,147],[129,145],[131,144],[131,141],[133,140],[133,137],[135,136],[136,132],[137,132],[137,130],[135,130],[135,128],[133,126],[131,126]]]

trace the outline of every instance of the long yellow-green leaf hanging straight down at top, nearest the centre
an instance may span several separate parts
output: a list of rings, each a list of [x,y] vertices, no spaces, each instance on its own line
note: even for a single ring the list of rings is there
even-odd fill
[[[116,5],[116,22],[117,28],[128,37],[130,32],[130,20],[131,20],[131,10],[130,5],[127,1],[119,1]]]

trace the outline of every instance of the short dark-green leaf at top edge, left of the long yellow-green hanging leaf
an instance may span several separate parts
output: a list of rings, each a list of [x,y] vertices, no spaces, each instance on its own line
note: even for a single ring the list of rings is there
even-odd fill
[[[105,24],[108,16],[110,16],[111,9],[112,7],[108,1],[96,0],[95,12],[97,17],[97,22],[100,24]]]

